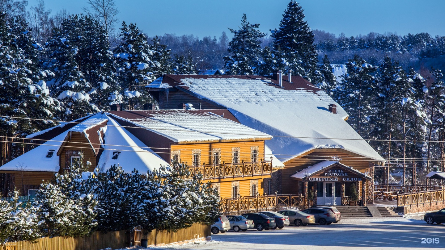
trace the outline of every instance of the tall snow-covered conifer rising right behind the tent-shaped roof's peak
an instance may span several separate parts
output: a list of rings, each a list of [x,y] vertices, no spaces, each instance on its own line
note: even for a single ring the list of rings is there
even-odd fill
[[[122,92],[121,96],[111,98],[113,103],[124,103],[125,109],[139,109],[144,103],[152,102],[145,85],[156,79],[154,71],[158,70],[150,60],[153,52],[147,42],[147,37],[136,24],[127,25],[122,22],[120,43],[113,49]],[[122,100],[119,97],[123,97]]]

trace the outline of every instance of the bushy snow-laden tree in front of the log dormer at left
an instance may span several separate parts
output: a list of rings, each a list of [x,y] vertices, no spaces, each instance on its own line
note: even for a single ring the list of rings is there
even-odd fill
[[[97,195],[93,173],[86,172],[83,156],[68,172],[56,173],[50,183],[36,192],[34,206],[39,208],[40,230],[46,236],[88,235],[97,226]]]

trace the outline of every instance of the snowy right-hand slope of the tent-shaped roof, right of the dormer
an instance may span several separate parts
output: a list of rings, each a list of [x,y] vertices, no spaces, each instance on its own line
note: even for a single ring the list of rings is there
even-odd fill
[[[120,165],[126,173],[131,173],[134,169],[147,173],[159,169],[161,165],[170,166],[133,134],[119,127],[112,118],[109,118],[107,125],[103,145],[105,150],[98,162],[101,172],[105,172],[112,165]]]

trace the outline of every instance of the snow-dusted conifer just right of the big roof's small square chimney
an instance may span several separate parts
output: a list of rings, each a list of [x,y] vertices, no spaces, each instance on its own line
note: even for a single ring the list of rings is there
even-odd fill
[[[342,83],[332,89],[334,100],[348,112],[349,125],[366,137],[371,130],[368,117],[373,113],[370,105],[376,85],[373,76],[376,67],[356,55],[348,61],[346,68],[348,73],[343,76]]]

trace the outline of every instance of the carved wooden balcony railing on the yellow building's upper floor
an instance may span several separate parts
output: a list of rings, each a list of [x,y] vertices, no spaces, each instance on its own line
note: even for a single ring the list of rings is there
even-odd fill
[[[205,180],[269,175],[272,172],[270,161],[224,163],[218,165],[189,166],[192,175],[201,173]]]

